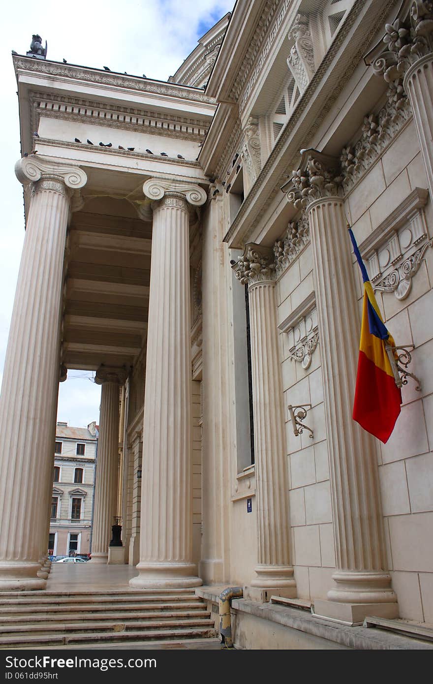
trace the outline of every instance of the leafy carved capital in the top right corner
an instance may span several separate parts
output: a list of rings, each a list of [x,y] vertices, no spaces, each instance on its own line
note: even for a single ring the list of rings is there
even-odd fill
[[[406,0],[393,23],[385,25],[382,40],[365,56],[365,62],[392,83],[402,79],[412,64],[432,51],[432,0]]]

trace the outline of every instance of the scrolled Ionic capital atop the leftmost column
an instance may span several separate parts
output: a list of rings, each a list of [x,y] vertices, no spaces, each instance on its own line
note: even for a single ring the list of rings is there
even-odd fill
[[[79,189],[87,183],[87,174],[79,166],[66,166],[35,155],[18,159],[15,175],[23,185],[34,183],[35,190],[55,190],[63,194],[68,194],[67,188]]]

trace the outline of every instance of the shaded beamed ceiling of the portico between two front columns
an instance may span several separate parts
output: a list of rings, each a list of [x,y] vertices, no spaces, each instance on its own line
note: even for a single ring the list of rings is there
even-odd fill
[[[73,214],[66,252],[63,363],[133,365],[146,343],[152,225],[126,200],[93,198]]]

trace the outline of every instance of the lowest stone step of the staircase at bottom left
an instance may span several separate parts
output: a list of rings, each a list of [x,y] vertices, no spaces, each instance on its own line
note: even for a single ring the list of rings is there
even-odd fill
[[[206,639],[215,637],[213,627],[185,627],[183,629],[157,629],[153,631],[123,631],[123,632],[90,632],[70,635],[39,635],[0,637],[0,648],[32,648],[34,646],[62,646],[75,644],[91,646],[92,644],[109,644],[115,646],[124,642],[171,641],[179,639]]]

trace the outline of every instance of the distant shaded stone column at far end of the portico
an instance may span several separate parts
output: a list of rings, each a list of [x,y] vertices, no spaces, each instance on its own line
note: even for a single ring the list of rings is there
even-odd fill
[[[123,368],[100,366],[96,384],[101,384],[98,456],[96,458],[92,563],[107,563],[111,525],[117,515],[119,456],[119,389],[127,379]]]

